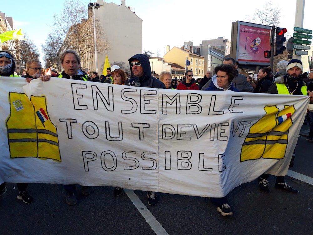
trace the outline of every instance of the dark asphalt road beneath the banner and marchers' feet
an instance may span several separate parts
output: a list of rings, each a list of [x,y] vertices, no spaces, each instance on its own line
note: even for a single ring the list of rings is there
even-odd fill
[[[296,147],[293,172],[313,180],[313,143],[305,140],[307,126]],[[0,198],[0,234],[313,234],[313,185],[285,177],[298,189],[292,194],[274,188],[259,190],[256,180],[227,196],[233,216],[221,216],[208,198],[159,193],[156,206],[143,191],[113,196],[112,187],[91,187],[78,203],[65,203],[63,185],[29,184],[32,204],[16,199],[16,184]],[[133,194],[134,192],[135,194]]]

